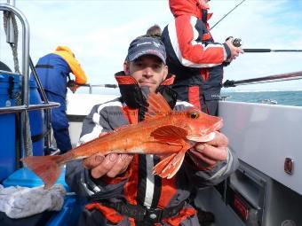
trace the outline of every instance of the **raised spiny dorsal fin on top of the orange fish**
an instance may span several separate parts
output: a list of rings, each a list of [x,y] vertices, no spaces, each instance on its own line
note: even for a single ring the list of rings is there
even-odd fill
[[[154,120],[171,113],[171,107],[160,93],[150,93],[147,99],[148,107],[145,113],[145,121]]]

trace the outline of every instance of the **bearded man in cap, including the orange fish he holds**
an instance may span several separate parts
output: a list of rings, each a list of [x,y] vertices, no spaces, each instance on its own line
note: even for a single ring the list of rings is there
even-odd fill
[[[165,58],[159,39],[135,39],[115,74],[122,97],[91,109],[81,145],[23,160],[45,188],[68,163],[68,185],[89,199],[78,225],[198,226],[190,192],[234,172],[222,120],[177,100]]]

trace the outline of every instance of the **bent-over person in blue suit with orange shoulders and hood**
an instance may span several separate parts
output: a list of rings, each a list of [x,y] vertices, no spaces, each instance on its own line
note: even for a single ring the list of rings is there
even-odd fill
[[[52,130],[60,153],[68,152],[72,148],[66,114],[68,88],[76,92],[78,85],[87,82],[87,77],[67,46],[58,46],[53,53],[39,58],[36,72],[48,100],[60,103],[60,107],[52,108]],[[76,81],[70,79],[70,73],[76,76]]]

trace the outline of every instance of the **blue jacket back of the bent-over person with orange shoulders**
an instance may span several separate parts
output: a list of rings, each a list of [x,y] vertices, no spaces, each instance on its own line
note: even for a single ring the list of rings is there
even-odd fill
[[[39,65],[49,65],[53,68],[38,67]],[[52,93],[66,98],[68,92],[68,74],[71,73],[71,70],[65,59],[57,54],[50,53],[39,58],[36,66],[36,72],[44,90],[51,91]]]

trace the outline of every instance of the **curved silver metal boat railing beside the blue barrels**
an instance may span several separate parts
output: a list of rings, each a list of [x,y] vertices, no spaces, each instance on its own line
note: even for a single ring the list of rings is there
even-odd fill
[[[10,3],[10,1],[8,1]],[[14,4],[14,1],[12,1],[12,4]],[[0,107],[0,114],[1,113],[20,113],[20,118],[22,121],[22,124],[20,125],[20,133],[22,135],[20,136],[20,147],[21,150],[25,150],[25,147],[28,146],[28,141],[26,137],[28,137],[28,131],[26,129],[26,125],[28,123],[28,111],[38,110],[38,109],[47,109],[46,110],[46,124],[47,129],[50,125],[50,108],[52,107],[58,107],[60,106],[59,103],[54,102],[48,102],[47,97],[44,95],[44,89],[41,85],[41,82],[39,81],[37,75],[35,74],[36,70],[35,67],[32,64],[32,61],[29,56],[29,26],[28,26],[28,20],[24,16],[22,12],[20,12],[19,9],[14,7],[14,5],[11,4],[0,4],[0,11],[3,12],[9,12],[10,15],[15,15],[19,20],[20,24],[22,26],[22,69],[20,75],[22,75],[22,95],[21,95],[21,105],[15,105],[15,106],[5,106]],[[9,23],[10,21],[8,21]],[[12,21],[11,21],[12,22]],[[7,43],[12,42],[12,24],[8,26],[8,32],[7,32]],[[29,105],[29,66],[31,66],[31,70],[33,71],[36,83],[38,85],[38,88],[40,90],[40,93],[42,93],[42,97],[44,98],[44,104],[37,104],[37,105]],[[48,133],[46,135],[46,148],[50,147],[50,140],[51,135]]]

